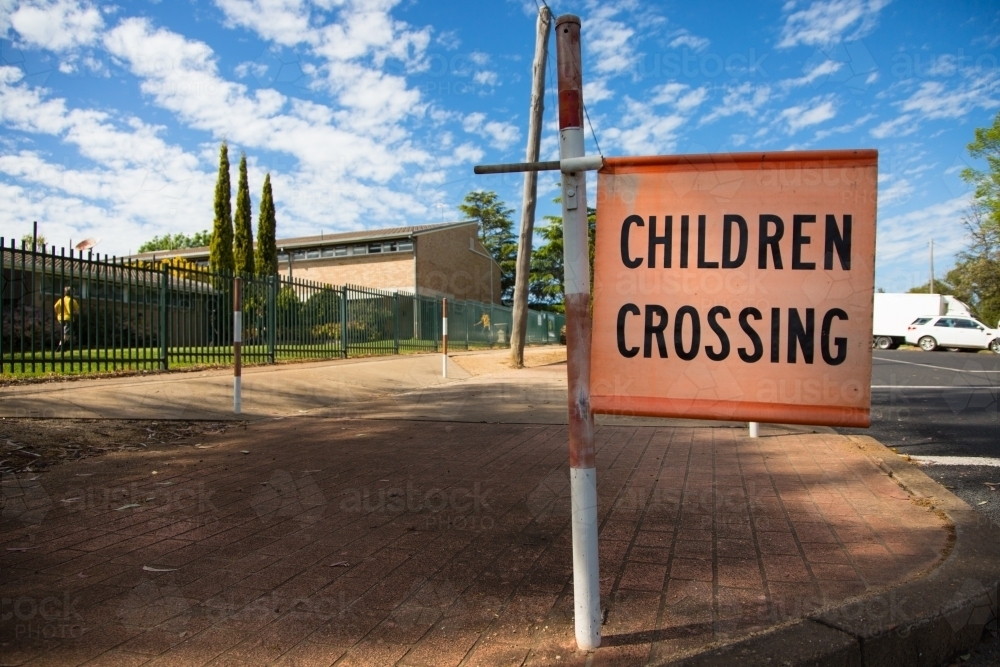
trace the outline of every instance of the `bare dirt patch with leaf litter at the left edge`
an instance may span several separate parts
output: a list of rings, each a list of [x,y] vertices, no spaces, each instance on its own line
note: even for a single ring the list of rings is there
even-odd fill
[[[43,472],[108,452],[190,445],[246,422],[128,419],[0,419],[0,473]]]

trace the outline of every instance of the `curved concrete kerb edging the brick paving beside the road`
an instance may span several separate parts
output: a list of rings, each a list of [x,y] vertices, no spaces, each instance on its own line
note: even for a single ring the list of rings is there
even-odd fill
[[[998,615],[1000,527],[874,438],[848,439],[914,498],[947,515],[955,542],[944,562],[920,579],[660,664],[938,667],[979,642]]]

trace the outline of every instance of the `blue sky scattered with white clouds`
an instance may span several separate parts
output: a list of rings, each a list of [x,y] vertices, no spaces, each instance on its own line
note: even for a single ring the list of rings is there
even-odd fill
[[[1000,109],[995,3],[550,6],[583,20],[605,155],[877,148],[876,284],[926,282],[931,236],[938,275],[951,266],[965,145]],[[234,190],[247,154],[255,223],[270,172],[279,236],[457,219],[477,188],[519,209],[520,176],[472,166],[524,157],[535,13],[534,0],[0,0],[0,234],[38,220],[57,245],[93,236],[124,254],[209,228],[223,139]],[[557,150],[552,64],[543,159]],[[539,215],[556,212],[555,176],[539,189]]]

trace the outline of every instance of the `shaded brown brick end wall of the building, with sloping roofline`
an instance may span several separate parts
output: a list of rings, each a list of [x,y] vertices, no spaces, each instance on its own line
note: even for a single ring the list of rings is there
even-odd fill
[[[417,250],[417,291],[429,296],[500,302],[500,267],[488,257],[469,250],[469,239],[481,253],[478,225],[465,225],[414,240]],[[493,295],[490,296],[490,273]]]

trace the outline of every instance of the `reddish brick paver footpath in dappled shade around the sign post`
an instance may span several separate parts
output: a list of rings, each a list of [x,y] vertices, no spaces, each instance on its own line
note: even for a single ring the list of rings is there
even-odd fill
[[[889,591],[953,544],[847,437],[597,440],[592,654],[564,426],[300,417],[5,476],[0,661],[641,665]]]

